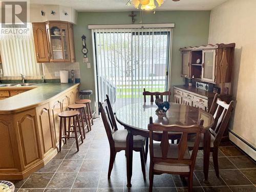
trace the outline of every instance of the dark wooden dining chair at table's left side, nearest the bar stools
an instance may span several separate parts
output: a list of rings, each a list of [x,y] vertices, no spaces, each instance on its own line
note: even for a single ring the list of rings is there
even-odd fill
[[[108,136],[109,144],[110,144],[110,163],[109,163],[109,172],[108,178],[111,176],[111,172],[113,169],[116,153],[122,150],[125,151],[126,154],[126,137],[127,130],[118,130],[117,127],[113,126],[115,124],[115,118],[112,108],[108,107],[108,99],[105,99],[103,103],[99,102],[99,112],[101,114],[101,118],[105,127],[106,135]],[[144,180],[146,179],[146,171],[145,171],[145,152],[144,152],[144,137],[142,136],[134,136],[134,144],[133,150],[136,152],[140,152],[140,161],[141,161],[141,169],[143,173]]]

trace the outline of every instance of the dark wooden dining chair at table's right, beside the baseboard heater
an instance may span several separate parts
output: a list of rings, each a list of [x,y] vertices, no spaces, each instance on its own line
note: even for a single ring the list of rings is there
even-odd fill
[[[218,151],[219,145],[222,139],[222,136],[226,130],[229,118],[233,109],[233,102],[231,101],[227,104],[225,101],[222,101],[218,98],[218,93],[215,94],[214,100],[212,101],[211,108],[209,113],[214,116],[214,125],[209,129],[210,131],[210,152],[212,152],[212,159],[214,161],[214,169],[216,176],[219,177],[219,163],[218,163]],[[194,143],[194,136],[190,137],[188,146],[191,146]],[[199,149],[203,150],[203,135],[200,139]]]

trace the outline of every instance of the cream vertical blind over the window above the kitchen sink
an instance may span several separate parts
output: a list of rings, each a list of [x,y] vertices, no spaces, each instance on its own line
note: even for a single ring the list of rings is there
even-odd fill
[[[15,30],[19,30],[18,26]],[[0,52],[4,77],[39,76],[36,63],[32,25],[28,24],[28,31],[24,34],[0,34]],[[6,30],[6,28],[5,28]],[[7,29],[12,30],[12,28]],[[20,29],[24,30],[23,28]]]

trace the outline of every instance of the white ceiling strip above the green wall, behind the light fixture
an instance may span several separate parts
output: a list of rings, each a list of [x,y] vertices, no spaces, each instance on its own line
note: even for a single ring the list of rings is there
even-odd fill
[[[126,6],[129,0],[30,0],[30,4],[61,5],[77,11],[136,11],[133,6]],[[157,11],[167,10],[211,10],[227,0],[165,0]]]

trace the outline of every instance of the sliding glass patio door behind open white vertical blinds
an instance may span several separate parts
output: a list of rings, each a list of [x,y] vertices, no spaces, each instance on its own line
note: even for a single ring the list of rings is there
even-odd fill
[[[147,91],[166,91],[170,29],[94,30],[98,100],[109,95],[114,110],[142,101]]]

